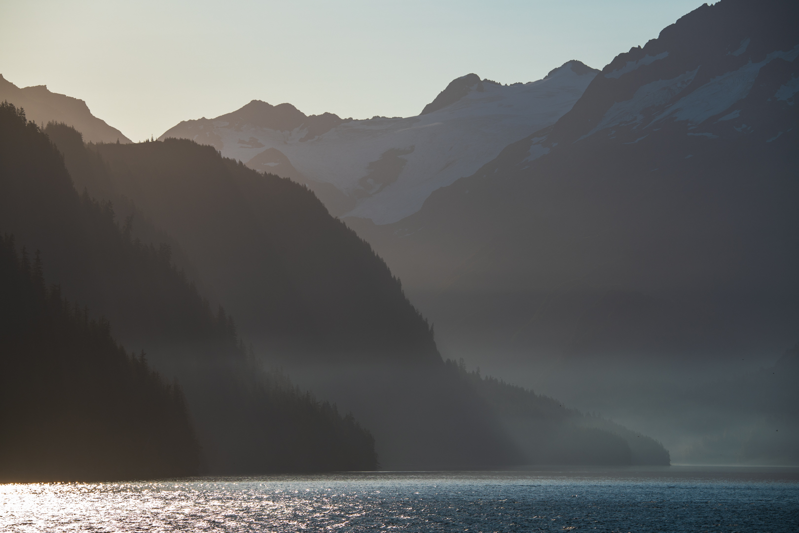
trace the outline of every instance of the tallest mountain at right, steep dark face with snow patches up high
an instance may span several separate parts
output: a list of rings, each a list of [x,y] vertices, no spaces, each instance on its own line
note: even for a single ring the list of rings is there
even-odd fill
[[[604,398],[666,440],[654,420],[681,381],[768,366],[799,336],[796,19],[789,2],[702,6],[417,213],[345,221],[445,356]]]

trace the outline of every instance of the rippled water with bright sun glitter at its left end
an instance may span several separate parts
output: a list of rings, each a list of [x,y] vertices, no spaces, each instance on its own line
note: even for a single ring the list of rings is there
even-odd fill
[[[799,531],[799,469],[365,472],[0,485],[2,531]]]

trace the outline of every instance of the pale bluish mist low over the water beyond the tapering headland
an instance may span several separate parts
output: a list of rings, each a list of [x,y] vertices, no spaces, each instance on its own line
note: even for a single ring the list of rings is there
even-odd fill
[[[446,349],[444,350],[446,353]],[[749,360],[531,360],[470,362],[572,408],[598,412],[659,440],[676,464],[799,464],[799,356],[793,348]],[[760,355],[760,354],[758,354]]]

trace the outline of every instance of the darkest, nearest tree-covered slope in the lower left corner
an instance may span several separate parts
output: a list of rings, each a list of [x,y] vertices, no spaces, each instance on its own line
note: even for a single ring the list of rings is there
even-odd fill
[[[177,381],[117,345],[38,253],[0,237],[0,479],[194,475],[201,453]]]

